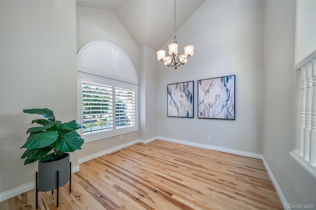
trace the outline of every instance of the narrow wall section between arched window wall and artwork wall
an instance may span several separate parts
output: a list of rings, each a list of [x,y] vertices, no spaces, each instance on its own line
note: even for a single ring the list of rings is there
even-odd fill
[[[151,140],[157,136],[156,52],[148,46],[141,46],[139,63],[140,139]]]

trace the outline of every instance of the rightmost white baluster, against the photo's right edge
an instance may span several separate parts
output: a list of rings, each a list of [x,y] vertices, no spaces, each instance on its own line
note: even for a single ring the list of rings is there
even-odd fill
[[[310,162],[316,164],[316,59],[312,62],[313,69],[313,98],[312,98],[312,131],[311,131],[311,149]]]

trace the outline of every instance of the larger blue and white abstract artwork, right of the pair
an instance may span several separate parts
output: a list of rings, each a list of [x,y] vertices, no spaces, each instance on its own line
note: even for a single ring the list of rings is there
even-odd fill
[[[235,75],[197,80],[197,117],[235,120]]]

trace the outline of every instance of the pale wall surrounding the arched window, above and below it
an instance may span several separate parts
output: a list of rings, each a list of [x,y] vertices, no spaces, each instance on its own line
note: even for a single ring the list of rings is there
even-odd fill
[[[132,61],[139,77],[139,49],[123,27],[113,11],[77,7],[77,50],[89,41],[104,40],[121,48]],[[138,79],[139,80],[139,79]],[[139,95],[139,98],[142,96]],[[84,143],[79,151],[79,158],[139,139],[139,131],[119,136]]]

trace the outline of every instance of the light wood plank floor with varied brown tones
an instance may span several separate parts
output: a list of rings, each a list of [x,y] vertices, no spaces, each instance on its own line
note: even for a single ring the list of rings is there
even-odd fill
[[[35,190],[0,210],[35,209]],[[55,210],[56,193],[39,192]],[[163,140],[137,143],[80,164],[59,190],[59,210],[283,209],[261,160]]]

